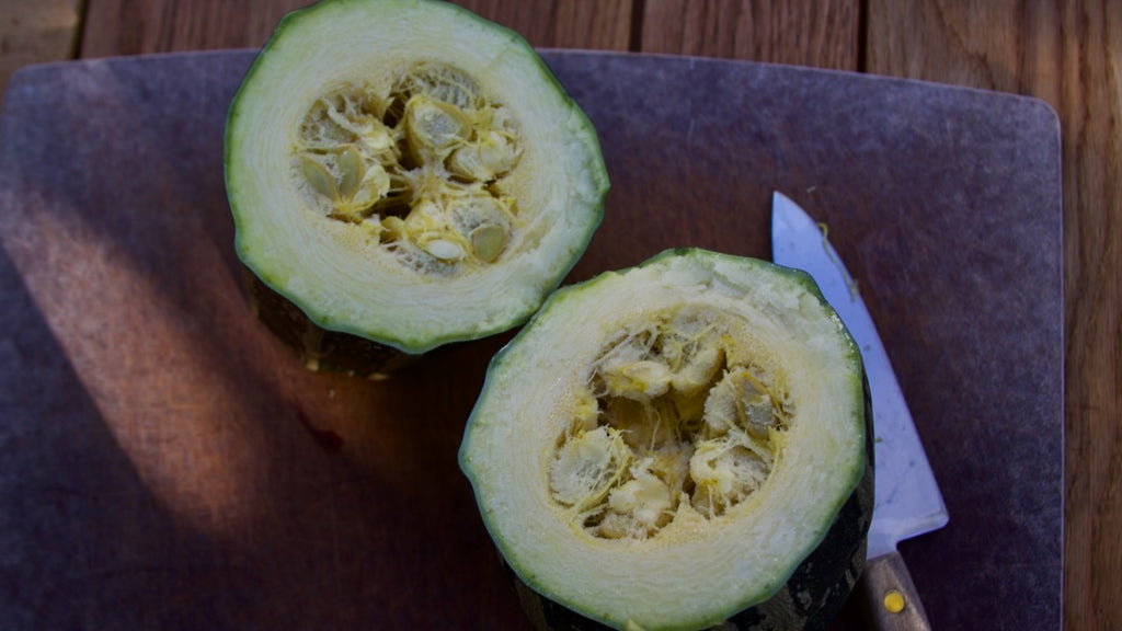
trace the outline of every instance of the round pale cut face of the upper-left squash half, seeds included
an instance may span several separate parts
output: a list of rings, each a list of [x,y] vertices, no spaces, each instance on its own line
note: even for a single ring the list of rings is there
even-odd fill
[[[230,107],[224,163],[256,280],[407,354],[524,322],[608,188],[596,130],[531,46],[429,0],[286,16]]]

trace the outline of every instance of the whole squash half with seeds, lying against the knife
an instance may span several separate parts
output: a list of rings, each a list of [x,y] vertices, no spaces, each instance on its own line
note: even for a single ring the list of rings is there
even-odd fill
[[[460,466],[540,628],[801,629],[863,568],[867,404],[809,276],[670,250],[546,301]]]

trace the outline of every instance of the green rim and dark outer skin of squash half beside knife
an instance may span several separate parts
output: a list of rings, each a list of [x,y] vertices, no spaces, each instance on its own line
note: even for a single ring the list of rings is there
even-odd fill
[[[719,255],[715,253],[707,253],[703,250],[697,250],[692,248],[679,248],[673,250],[666,250],[651,259],[640,264],[637,267],[646,266],[659,266],[666,263],[673,258],[687,258],[697,259],[701,265],[714,264],[715,260],[730,259],[735,257],[727,257],[726,255]],[[817,296],[825,304],[825,299],[821,298],[817,285],[813,280],[806,273],[797,269],[789,269],[780,266],[775,266],[769,262],[762,260],[747,260],[747,265],[755,266],[769,266],[770,273],[785,277],[785,282],[797,284],[802,286],[807,293]],[[625,274],[624,272],[608,272],[606,275]],[[586,283],[597,283],[599,277],[587,281]],[[572,298],[573,292],[579,292],[580,286],[565,287],[554,294],[543,307],[530,324],[523,329],[518,336],[512,340],[506,348],[504,348],[491,362],[491,368],[488,372],[488,382],[496,379],[496,382],[505,381],[504,377],[499,377],[498,374],[505,373],[509,374],[512,368],[511,364],[517,365],[516,359],[518,351],[517,345],[519,338],[528,335],[527,330],[533,329],[537,321],[543,318],[549,318],[550,308],[553,305],[553,301],[569,301],[576,300]],[[574,309],[574,311],[577,311]],[[833,316],[833,310],[829,310]],[[852,589],[859,579],[862,573],[864,571],[865,557],[866,557],[866,537],[872,521],[873,505],[874,505],[874,428],[873,428],[873,414],[872,414],[872,400],[870,397],[868,385],[866,382],[866,376],[864,374],[863,366],[861,366],[859,351],[856,349],[856,345],[852,342],[848,333],[845,332],[844,327],[840,324],[840,320],[833,317],[839,329],[839,335],[844,336],[848,340],[848,346],[850,350],[847,356],[849,359],[847,362],[853,362],[856,366],[856,378],[858,382],[854,382],[854,387],[850,392],[854,392],[855,396],[859,399],[855,401],[857,405],[854,409],[854,413],[850,418],[855,423],[859,423],[863,427],[862,432],[862,449],[859,468],[856,469],[858,475],[853,478],[853,486],[847,496],[843,496],[838,500],[830,500],[830,502],[837,502],[834,504],[836,512],[834,513],[833,521],[824,522],[828,523],[828,528],[824,529],[821,538],[817,541],[817,545],[812,545],[809,551],[801,558],[798,564],[792,564],[789,574],[785,577],[778,577],[776,586],[770,594],[764,594],[763,600],[756,600],[754,604],[746,606],[739,611],[735,609],[730,612],[726,610],[724,619],[710,618],[708,622],[698,625],[697,623],[681,623],[681,622],[668,622],[665,627],[660,627],[657,622],[649,621],[645,629],[646,631],[652,631],[653,629],[720,629],[720,630],[776,630],[776,631],[795,631],[795,630],[815,630],[815,629],[827,629],[837,619],[839,612],[842,612]],[[536,347],[535,347],[536,348]],[[504,365],[506,364],[506,365]],[[516,369],[516,368],[515,368]],[[852,371],[853,367],[846,368]],[[849,373],[847,373],[849,374]],[[861,392],[856,392],[855,388],[859,388]],[[471,428],[472,422],[476,420],[477,413],[480,406],[484,404],[482,401],[487,396],[488,384],[484,385],[484,393],[480,396],[480,403],[477,404],[477,410],[472,412],[472,418],[469,421],[469,427],[466,430],[465,443],[461,446],[460,450],[460,461],[461,468],[471,479],[473,487],[477,490],[477,500],[479,500],[479,488],[486,486],[479,483],[480,470],[482,467],[478,464],[480,454],[477,454],[478,448],[472,445],[473,441],[479,440],[477,437],[472,436],[473,431]],[[859,419],[856,418],[859,414]],[[490,420],[484,418],[481,421],[484,424],[489,424]],[[494,456],[491,456],[494,457]],[[473,461],[475,460],[475,461]],[[512,560],[505,557],[504,546],[505,542],[502,540],[502,536],[496,532],[494,524],[491,523],[493,518],[489,516],[491,510],[485,505],[480,500],[480,509],[484,512],[484,520],[488,529],[491,531],[493,537],[496,538],[496,545],[500,551],[500,558],[503,559],[504,567],[507,570],[514,589],[517,594],[519,604],[525,611],[528,620],[532,622],[534,628],[542,631],[562,631],[562,630],[601,630],[601,629],[643,629],[634,623],[613,623],[614,625],[608,625],[603,622],[603,619],[592,619],[580,611],[577,607],[570,607],[565,602],[564,594],[557,594],[551,596],[543,595],[543,593],[549,593],[548,591],[540,591],[534,584],[525,582],[523,576],[523,569],[518,568],[516,565],[517,560]],[[534,569],[527,569],[531,575],[535,573]],[[688,577],[683,577],[684,582],[688,582]],[[627,591],[626,584],[619,584],[619,589]],[[703,598],[703,593],[697,594],[698,598]]]

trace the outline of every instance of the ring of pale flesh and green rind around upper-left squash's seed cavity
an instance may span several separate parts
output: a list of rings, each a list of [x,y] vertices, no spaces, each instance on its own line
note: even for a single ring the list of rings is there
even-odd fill
[[[442,25],[447,37],[434,35],[439,29],[425,26],[433,24]],[[338,42],[347,39],[343,30],[360,40],[346,42],[343,47]],[[407,40],[402,34],[408,34]],[[388,53],[378,48],[384,39],[394,37],[399,46],[390,46],[393,51]],[[433,39],[426,44],[424,37]],[[341,280],[339,286],[332,287],[330,278],[315,276],[313,271],[319,263],[309,262],[298,244],[285,245],[270,225],[270,209],[284,205],[278,200],[286,195],[269,189],[285,185],[280,182],[284,175],[275,173],[276,161],[270,163],[268,149],[260,147],[263,143],[283,147],[284,141],[254,132],[255,126],[260,127],[261,117],[292,119],[291,111],[306,107],[318,90],[338,82],[330,67],[307,70],[309,64],[330,66],[334,57],[329,57],[327,49],[332,45],[338,45],[340,55],[353,56],[359,52],[368,55],[368,65],[364,67],[371,73],[387,72],[379,66],[379,61],[387,56],[439,57],[438,48],[444,46],[445,56],[451,57],[445,60],[449,63],[481,64],[465,67],[468,72],[487,73],[482,77],[477,74],[477,79],[486,82],[489,76],[507,77],[499,86],[504,90],[499,97],[523,117],[531,135],[551,143],[536,150],[555,158],[545,161],[539,155],[536,162],[527,161],[533,163],[535,175],[519,176],[523,182],[531,179],[543,182],[535,185],[535,203],[546,210],[540,211],[542,216],[527,227],[525,236],[525,243],[536,246],[459,283],[430,281],[411,285],[393,273],[378,278],[373,271],[356,265],[337,265],[346,271],[339,276],[353,276]],[[403,49],[407,53],[403,54]],[[312,61],[305,61],[309,58]],[[307,81],[314,77],[315,84],[286,83],[298,73],[304,73]],[[342,74],[355,79],[356,71],[351,67]],[[509,80],[512,76],[517,80]],[[496,89],[495,81],[487,88]],[[301,104],[301,99],[306,103]],[[270,164],[274,168],[268,167]],[[552,170],[553,164],[564,172]],[[247,267],[318,326],[410,354],[450,341],[486,337],[524,322],[587,248],[603,219],[608,189],[595,128],[528,43],[505,27],[435,0],[325,0],[283,18],[231,103],[224,170],[236,250]],[[296,195],[287,198],[295,200]],[[291,240],[305,241],[306,235],[292,236]]]

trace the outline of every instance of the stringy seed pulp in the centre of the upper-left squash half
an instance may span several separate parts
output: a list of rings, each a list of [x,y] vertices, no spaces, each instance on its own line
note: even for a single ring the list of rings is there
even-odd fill
[[[493,263],[518,226],[504,186],[517,125],[452,66],[420,63],[384,95],[344,85],[315,101],[297,138],[294,164],[314,207],[407,267]]]

